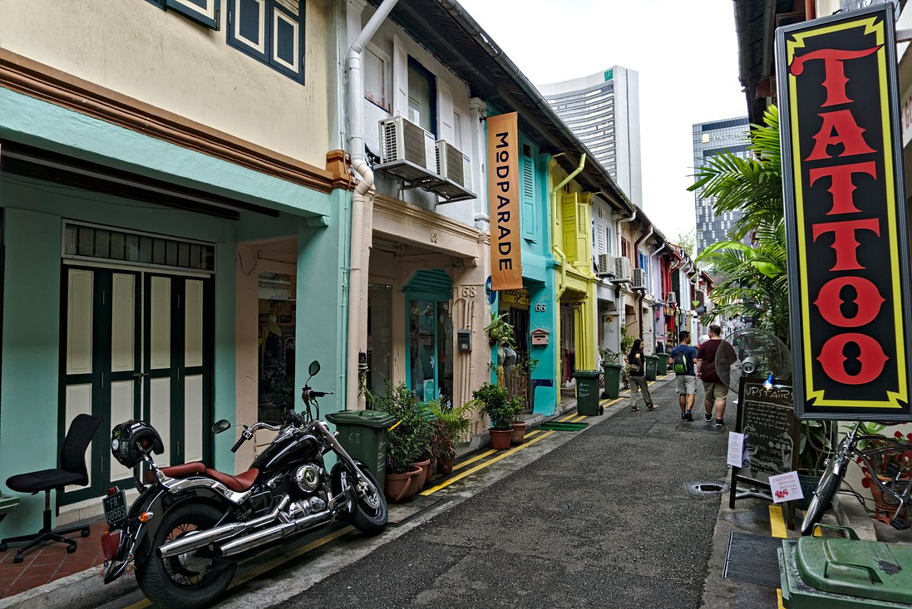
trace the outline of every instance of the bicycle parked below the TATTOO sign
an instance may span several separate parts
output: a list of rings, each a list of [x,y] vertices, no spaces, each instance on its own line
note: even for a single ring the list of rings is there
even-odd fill
[[[817,485],[817,489],[814,490],[814,496],[811,498],[807,511],[804,513],[804,520],[801,525],[802,535],[810,535],[814,532],[817,522],[823,518],[824,512],[829,509],[830,502],[833,501],[836,490],[839,490],[845,477],[845,470],[854,456],[859,457],[871,472],[886,470],[885,473],[888,474],[888,476],[885,476],[886,481],[881,480],[876,474],[871,476],[871,480],[874,480],[883,492],[893,497],[897,502],[898,507],[890,519],[890,525],[899,531],[909,528],[909,523],[899,518],[899,514],[907,509],[909,495],[912,493],[912,476],[909,475],[912,473],[910,471],[912,468],[909,467],[909,463],[903,462],[903,454],[912,448],[904,442],[898,442],[895,439],[884,436],[858,436],[860,425],[861,423],[855,424],[855,428],[852,428],[845,438],[839,442],[839,446],[834,451],[834,456],[829,459],[824,475],[821,476],[820,483]],[[876,443],[876,448],[860,450],[857,448],[859,442]],[[871,462],[872,458],[880,458],[891,451],[898,451],[900,453],[899,459],[881,460],[878,467]],[[885,464],[886,468],[883,467]],[[905,478],[903,478],[903,474],[906,474]]]

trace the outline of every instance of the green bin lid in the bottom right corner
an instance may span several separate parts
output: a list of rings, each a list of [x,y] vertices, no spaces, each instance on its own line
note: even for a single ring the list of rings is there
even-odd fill
[[[912,548],[908,546],[802,537],[795,563],[804,583],[817,590],[912,604]]]

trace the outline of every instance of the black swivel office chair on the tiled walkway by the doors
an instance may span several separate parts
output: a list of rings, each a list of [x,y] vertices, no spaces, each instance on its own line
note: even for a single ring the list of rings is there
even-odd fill
[[[51,490],[62,489],[69,484],[80,486],[88,484],[86,449],[102,420],[104,417],[92,417],[91,415],[77,415],[73,419],[67,429],[67,438],[63,440],[63,449],[60,450],[59,470],[31,471],[6,479],[6,486],[17,492],[30,492],[35,495],[42,490],[45,491],[45,522],[41,531],[33,535],[9,537],[0,541],[0,552],[6,552],[7,543],[28,542],[16,551],[14,563],[22,563],[23,552],[42,542],[67,543],[67,553],[76,552],[76,541],[64,537],[66,533],[81,531],[83,537],[88,537],[91,531],[87,526],[51,531]]]

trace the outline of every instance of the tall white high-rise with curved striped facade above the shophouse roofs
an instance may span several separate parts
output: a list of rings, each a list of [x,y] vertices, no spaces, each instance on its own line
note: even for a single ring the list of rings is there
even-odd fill
[[[538,89],[630,201],[642,204],[637,72],[609,67],[587,77],[540,85]]]

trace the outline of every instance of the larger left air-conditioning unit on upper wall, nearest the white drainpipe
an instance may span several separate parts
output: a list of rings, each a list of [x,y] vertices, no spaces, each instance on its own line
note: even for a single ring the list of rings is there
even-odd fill
[[[437,176],[437,151],[430,131],[402,116],[379,121],[380,157],[374,169],[406,182],[408,187],[420,187]]]

